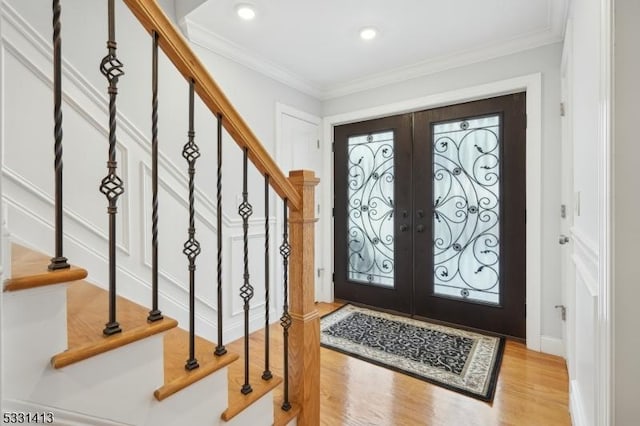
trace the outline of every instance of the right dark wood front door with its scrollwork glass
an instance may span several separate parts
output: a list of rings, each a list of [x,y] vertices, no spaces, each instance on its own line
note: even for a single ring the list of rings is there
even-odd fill
[[[413,314],[526,337],[525,105],[414,115]]]

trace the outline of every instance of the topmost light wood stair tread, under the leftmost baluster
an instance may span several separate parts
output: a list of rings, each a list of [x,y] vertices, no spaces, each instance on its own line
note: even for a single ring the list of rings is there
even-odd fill
[[[87,277],[87,271],[76,266],[50,271],[47,269],[50,262],[49,256],[19,244],[11,244],[11,278],[5,280],[4,291],[67,283]]]

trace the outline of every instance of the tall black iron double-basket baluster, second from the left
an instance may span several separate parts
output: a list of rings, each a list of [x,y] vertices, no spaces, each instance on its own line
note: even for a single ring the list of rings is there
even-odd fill
[[[115,26],[115,0],[109,0],[108,20],[109,39],[107,41],[107,55],[100,62],[100,71],[109,82],[109,160],[107,161],[107,176],[102,179],[100,192],[109,201],[107,213],[109,214],[109,322],[102,331],[105,335],[120,333],[122,329],[116,321],[116,214],[117,202],[124,193],[124,184],[117,175],[118,162],[116,161],[116,97],[118,95],[118,80],[124,75],[122,62],[116,56],[116,26]]]

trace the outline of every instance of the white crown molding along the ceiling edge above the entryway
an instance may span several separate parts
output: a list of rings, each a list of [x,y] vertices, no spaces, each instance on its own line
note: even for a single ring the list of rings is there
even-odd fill
[[[261,58],[188,17],[180,20],[180,27],[187,38],[198,46],[319,100],[328,100],[561,42],[564,38],[568,9],[568,0],[552,0],[548,3],[547,26],[540,31],[328,86],[318,86]]]

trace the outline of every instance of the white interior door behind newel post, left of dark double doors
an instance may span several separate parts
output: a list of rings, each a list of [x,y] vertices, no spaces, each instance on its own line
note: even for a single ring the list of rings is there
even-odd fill
[[[315,289],[316,300],[321,299],[322,294],[322,248],[323,218],[320,217],[320,200],[322,191],[326,186],[322,172],[322,152],[320,151],[320,118],[298,111],[284,105],[278,105],[278,164],[288,173],[289,170],[313,170],[316,177],[320,178],[320,184],[316,187],[316,224],[315,232]]]

